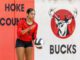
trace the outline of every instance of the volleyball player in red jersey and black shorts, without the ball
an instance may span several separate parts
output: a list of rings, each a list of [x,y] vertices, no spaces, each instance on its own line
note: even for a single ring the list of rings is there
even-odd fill
[[[18,60],[32,60],[33,44],[36,40],[38,24],[34,21],[35,11],[32,8],[27,10],[26,20],[20,20],[17,26],[16,52]]]

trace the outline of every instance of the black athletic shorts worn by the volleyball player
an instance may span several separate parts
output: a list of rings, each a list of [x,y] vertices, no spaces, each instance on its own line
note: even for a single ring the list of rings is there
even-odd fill
[[[24,47],[24,48],[27,48],[27,47],[32,47],[32,46],[33,46],[32,41],[26,42],[26,41],[22,41],[20,39],[17,39],[16,40],[16,47]]]

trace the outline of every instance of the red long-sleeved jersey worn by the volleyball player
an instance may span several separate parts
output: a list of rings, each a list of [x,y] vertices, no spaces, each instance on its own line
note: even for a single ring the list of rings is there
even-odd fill
[[[34,22],[33,24],[35,24],[35,27],[32,30],[30,30],[30,32],[26,32],[25,34],[22,34],[21,31],[25,30],[26,28],[29,28],[30,25],[28,25],[25,20],[20,20],[18,22],[18,26],[17,26],[17,37],[23,41],[35,40],[36,34],[37,34],[38,24],[36,22]]]

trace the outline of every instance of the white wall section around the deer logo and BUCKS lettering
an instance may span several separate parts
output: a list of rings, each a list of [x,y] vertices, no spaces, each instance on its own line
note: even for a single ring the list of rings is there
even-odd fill
[[[67,39],[60,39],[56,37],[51,30],[51,17],[48,15],[50,8],[77,8],[78,15],[75,18],[76,27],[73,34]],[[38,27],[38,37],[41,37],[44,41],[43,49],[35,48],[35,60],[79,60],[80,57],[80,1],[73,0],[72,2],[58,0],[35,0],[35,10]],[[62,45],[62,44],[75,44],[75,54],[50,54],[50,45]],[[65,49],[65,48],[64,48]],[[64,50],[63,49],[63,50]]]

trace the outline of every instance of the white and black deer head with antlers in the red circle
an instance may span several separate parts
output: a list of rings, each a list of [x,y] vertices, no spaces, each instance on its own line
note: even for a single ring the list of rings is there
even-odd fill
[[[75,14],[77,14],[77,11]],[[58,29],[58,32],[57,32],[58,35],[60,37],[66,37],[70,33],[68,30],[68,25],[71,24],[72,20],[74,19],[74,16],[68,17],[67,15],[64,15],[64,19],[61,20],[61,17],[59,15],[55,14],[54,9],[50,10],[49,15],[52,18],[54,18],[54,21],[55,21],[57,29]]]

